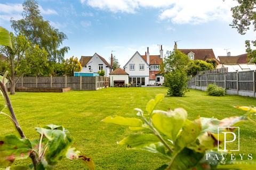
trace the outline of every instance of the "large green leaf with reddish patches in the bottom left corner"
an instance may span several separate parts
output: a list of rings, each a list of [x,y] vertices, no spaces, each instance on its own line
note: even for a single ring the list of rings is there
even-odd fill
[[[14,160],[26,159],[32,151],[28,139],[19,139],[15,135],[0,137],[0,165],[10,166]]]

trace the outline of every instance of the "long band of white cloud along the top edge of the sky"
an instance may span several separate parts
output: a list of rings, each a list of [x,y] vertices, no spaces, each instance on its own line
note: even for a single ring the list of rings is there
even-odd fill
[[[139,8],[158,8],[159,19],[173,23],[203,23],[231,19],[230,8],[235,1],[226,0],[81,0],[81,3],[113,13],[135,13]]]

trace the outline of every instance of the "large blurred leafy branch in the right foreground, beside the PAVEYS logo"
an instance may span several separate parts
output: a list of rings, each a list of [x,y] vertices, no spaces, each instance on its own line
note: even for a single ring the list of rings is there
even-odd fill
[[[247,111],[242,116],[227,117],[223,120],[199,117],[190,121],[187,118],[187,112],[182,108],[176,108],[174,111],[155,110],[156,105],[163,98],[164,95],[159,94],[155,99],[151,99],[146,105],[146,112],[135,108],[138,118],[108,116],[102,121],[130,126],[130,130],[149,129],[151,133],[142,131],[139,134],[131,134],[118,144],[125,145],[127,149],[153,152],[166,159],[167,164],[158,169],[206,170],[226,168],[227,165],[228,168],[236,167],[236,162],[213,158],[215,155],[221,157],[220,154],[225,153],[216,151],[217,143],[223,143],[224,140],[222,132],[235,131],[232,128],[221,129],[220,138],[218,138],[218,127],[235,127],[246,121],[253,121],[252,116],[256,112],[256,107],[236,107]],[[208,157],[210,155],[212,159],[206,160],[206,155]],[[243,162],[241,165],[247,166]]]

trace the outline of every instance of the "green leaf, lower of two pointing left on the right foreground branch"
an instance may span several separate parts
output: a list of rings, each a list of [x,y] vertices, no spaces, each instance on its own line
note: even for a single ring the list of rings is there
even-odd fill
[[[159,139],[153,134],[132,134],[119,141],[119,145],[126,145],[127,149],[140,149],[151,143],[157,143]]]

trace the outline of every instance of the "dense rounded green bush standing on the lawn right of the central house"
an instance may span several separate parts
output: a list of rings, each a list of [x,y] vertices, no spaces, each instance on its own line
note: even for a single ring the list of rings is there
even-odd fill
[[[165,74],[165,84],[169,87],[167,95],[182,97],[187,92],[187,74],[183,70],[173,70]]]

